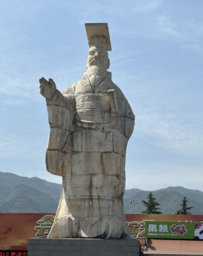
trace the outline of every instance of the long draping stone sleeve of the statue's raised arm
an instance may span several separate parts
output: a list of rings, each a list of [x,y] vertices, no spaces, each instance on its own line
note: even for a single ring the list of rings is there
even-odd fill
[[[56,90],[51,99],[46,100],[50,133],[46,150],[46,168],[49,173],[64,176],[70,168],[72,150],[72,125],[75,111],[74,97],[63,95]]]

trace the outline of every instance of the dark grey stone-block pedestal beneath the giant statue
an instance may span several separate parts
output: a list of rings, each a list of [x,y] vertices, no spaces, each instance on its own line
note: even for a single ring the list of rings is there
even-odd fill
[[[30,238],[28,256],[140,256],[140,242],[124,239]]]

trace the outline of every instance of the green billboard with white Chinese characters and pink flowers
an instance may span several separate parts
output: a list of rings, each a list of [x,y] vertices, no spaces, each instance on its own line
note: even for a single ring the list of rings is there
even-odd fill
[[[203,240],[203,222],[145,222],[145,237]]]

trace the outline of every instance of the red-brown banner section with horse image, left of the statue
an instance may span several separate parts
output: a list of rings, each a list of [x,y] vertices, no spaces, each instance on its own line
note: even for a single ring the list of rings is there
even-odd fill
[[[27,256],[29,238],[46,238],[53,213],[0,213],[0,256]]]

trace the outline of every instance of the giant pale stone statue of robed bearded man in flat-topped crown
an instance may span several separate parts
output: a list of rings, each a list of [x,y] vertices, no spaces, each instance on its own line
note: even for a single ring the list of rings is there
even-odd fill
[[[124,217],[126,146],[134,128],[129,103],[107,71],[107,24],[86,24],[87,72],[61,93],[39,80],[50,134],[49,173],[63,177],[48,238],[130,238]]]

